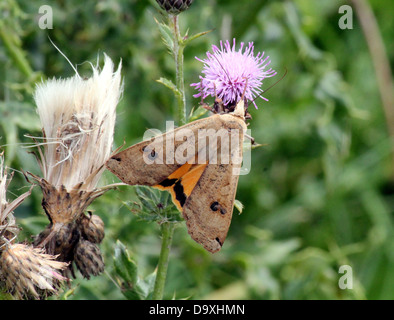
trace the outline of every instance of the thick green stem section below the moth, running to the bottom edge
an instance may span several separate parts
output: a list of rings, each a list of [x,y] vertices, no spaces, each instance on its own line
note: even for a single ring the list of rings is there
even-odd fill
[[[164,222],[163,224],[161,224],[161,250],[159,263],[157,265],[155,287],[152,296],[153,300],[163,299],[164,285],[167,277],[168,261],[170,257],[174,227],[174,223],[171,222]]]

